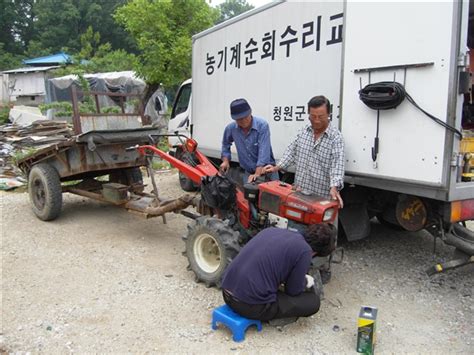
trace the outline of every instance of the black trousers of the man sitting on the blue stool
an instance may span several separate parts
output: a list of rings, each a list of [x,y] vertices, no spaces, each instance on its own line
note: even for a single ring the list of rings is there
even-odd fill
[[[277,318],[309,317],[319,311],[320,298],[314,288],[298,296],[289,296],[278,291],[276,302],[266,304],[248,304],[239,301],[227,290],[223,290],[225,303],[245,318],[269,321]]]

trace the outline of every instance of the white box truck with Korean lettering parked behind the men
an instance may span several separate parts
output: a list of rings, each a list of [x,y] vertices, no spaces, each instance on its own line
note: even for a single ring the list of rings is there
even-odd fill
[[[169,131],[217,161],[229,103],[244,97],[268,121],[278,159],[308,123],[307,101],[323,94],[345,141],[347,238],[366,237],[376,216],[456,247],[459,258],[436,271],[472,262],[473,14],[468,1],[269,3],[193,37],[193,79],[178,91]],[[399,83],[418,107],[407,97],[369,108],[359,91],[380,82]]]

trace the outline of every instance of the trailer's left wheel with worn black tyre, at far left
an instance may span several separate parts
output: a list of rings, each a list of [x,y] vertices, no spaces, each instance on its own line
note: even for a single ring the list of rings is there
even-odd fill
[[[36,217],[50,221],[59,216],[63,204],[61,181],[51,165],[42,163],[33,166],[28,176],[28,192]]]

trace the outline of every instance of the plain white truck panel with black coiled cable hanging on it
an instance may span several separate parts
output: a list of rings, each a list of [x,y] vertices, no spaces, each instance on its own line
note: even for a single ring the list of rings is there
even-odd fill
[[[429,197],[449,185],[459,137],[405,99],[396,109],[380,111],[374,161],[377,111],[359,99],[359,90],[370,83],[399,82],[420,107],[460,130],[462,95],[454,80],[459,12],[457,2],[345,4],[341,128],[346,172],[353,182],[381,188],[416,185]]]

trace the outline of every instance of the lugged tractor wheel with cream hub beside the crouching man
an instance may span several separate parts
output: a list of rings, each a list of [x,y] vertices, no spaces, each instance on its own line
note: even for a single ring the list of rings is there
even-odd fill
[[[220,287],[225,269],[240,251],[239,237],[218,218],[200,217],[188,225],[185,254],[197,282]]]

